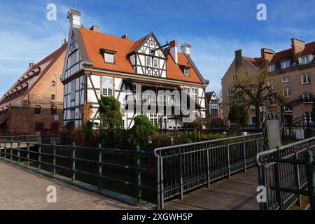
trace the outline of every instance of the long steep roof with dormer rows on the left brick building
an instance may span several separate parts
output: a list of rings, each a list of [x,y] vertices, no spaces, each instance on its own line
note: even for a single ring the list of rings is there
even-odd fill
[[[64,43],[59,49],[52,52],[34,66],[29,67],[25,73],[20,76],[17,82],[10,87],[0,99],[0,110],[8,108],[8,105],[12,102],[20,103],[27,96],[29,91],[38,83],[38,81],[45,75],[50,67],[56,62],[56,60],[66,50],[66,43]],[[20,91],[22,90],[22,91]],[[14,93],[14,96],[13,96]],[[10,96],[10,97],[8,97]]]

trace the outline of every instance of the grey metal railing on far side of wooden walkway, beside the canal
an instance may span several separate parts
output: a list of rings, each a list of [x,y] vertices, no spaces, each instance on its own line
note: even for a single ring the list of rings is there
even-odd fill
[[[166,200],[180,196],[211,181],[228,177],[255,165],[255,155],[263,151],[262,133],[202,141],[155,149],[158,158],[158,208]]]

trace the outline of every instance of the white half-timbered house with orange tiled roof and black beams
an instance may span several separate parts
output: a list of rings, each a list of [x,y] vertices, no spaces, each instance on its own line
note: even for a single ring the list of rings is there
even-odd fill
[[[114,96],[121,103],[126,129],[133,126],[139,114],[146,114],[155,126],[179,129],[185,126],[183,114],[137,110],[151,103],[175,106],[174,97],[159,94],[174,90],[193,99],[196,116],[205,116],[205,89],[209,81],[204,80],[191,59],[188,43],[181,45],[182,52],[178,52],[176,41],[161,46],[153,33],[139,41],[131,41],[127,34],[122,37],[102,34],[99,27],[83,27],[80,16],[77,10],[68,13],[69,45],[62,75],[64,123],[80,128],[81,108],[87,103],[92,107],[90,119],[99,124],[98,100],[104,95]]]

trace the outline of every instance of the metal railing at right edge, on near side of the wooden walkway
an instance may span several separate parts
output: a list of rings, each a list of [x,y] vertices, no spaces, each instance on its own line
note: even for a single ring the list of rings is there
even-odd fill
[[[256,155],[258,184],[265,186],[267,194],[266,201],[260,203],[260,209],[290,209],[293,204],[301,205],[301,195],[314,198],[314,167],[306,168],[307,160],[314,166],[311,151],[315,151],[315,137]],[[307,186],[311,179],[313,183]]]

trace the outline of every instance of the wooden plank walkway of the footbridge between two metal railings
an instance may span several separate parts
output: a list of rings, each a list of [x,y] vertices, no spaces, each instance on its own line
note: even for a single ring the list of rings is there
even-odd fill
[[[183,200],[175,199],[165,204],[167,210],[259,210],[258,169],[253,167],[247,173],[231,176],[201,188],[187,195]]]

